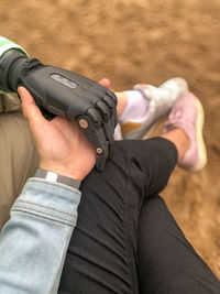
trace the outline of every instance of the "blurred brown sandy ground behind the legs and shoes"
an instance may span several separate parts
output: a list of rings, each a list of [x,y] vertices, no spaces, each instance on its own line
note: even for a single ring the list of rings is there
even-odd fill
[[[0,34],[42,62],[114,89],[182,76],[206,111],[208,165],[178,167],[164,197],[185,235],[220,277],[220,1],[1,0]]]

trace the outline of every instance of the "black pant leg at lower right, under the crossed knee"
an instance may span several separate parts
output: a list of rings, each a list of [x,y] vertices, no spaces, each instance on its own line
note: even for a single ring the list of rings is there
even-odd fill
[[[220,293],[218,279],[186,240],[160,196],[144,202],[139,231],[140,293]]]

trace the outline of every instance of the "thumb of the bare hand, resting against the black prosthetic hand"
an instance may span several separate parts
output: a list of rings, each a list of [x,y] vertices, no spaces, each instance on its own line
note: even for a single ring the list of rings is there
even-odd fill
[[[31,94],[24,87],[19,87],[18,92],[21,97],[22,110],[28,121],[31,124],[44,122],[45,119],[42,116]]]

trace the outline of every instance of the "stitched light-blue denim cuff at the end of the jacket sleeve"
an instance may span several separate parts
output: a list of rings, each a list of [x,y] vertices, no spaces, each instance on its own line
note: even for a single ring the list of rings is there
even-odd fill
[[[30,178],[11,211],[24,211],[76,226],[81,193],[61,183]]]

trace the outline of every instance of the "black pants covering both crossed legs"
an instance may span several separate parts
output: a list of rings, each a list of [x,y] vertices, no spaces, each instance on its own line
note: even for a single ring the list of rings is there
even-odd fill
[[[158,196],[176,161],[162,138],[113,144],[105,171],[81,185],[58,293],[220,293]]]

